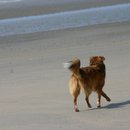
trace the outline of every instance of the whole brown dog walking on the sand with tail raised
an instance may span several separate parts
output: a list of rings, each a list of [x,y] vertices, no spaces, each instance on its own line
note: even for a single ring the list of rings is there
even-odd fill
[[[85,93],[85,100],[89,108],[92,107],[89,103],[89,96],[92,92],[96,92],[98,95],[97,107],[101,107],[101,96],[106,98],[107,101],[111,101],[102,90],[106,76],[104,60],[105,58],[103,56],[93,56],[90,58],[90,65],[82,68],[80,67],[81,63],[78,58],[64,64],[64,67],[72,72],[69,80],[69,90],[73,96],[75,112],[79,112],[77,98],[81,89]]]

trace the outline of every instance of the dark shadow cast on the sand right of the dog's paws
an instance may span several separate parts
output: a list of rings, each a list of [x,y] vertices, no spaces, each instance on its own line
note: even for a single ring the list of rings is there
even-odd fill
[[[119,103],[111,103],[107,106],[101,107],[101,109],[115,109],[115,108],[122,108],[127,105],[130,105],[130,100],[124,101],[124,102],[119,102]]]

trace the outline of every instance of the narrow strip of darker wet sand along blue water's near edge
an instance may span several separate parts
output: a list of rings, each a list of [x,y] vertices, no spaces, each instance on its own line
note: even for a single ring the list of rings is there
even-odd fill
[[[69,29],[61,29],[61,30],[54,30],[54,31],[45,31],[45,32],[36,32],[30,34],[20,34],[20,35],[13,35],[13,36],[3,36],[0,37],[1,43],[17,43],[17,42],[26,42],[26,41],[37,41],[42,39],[49,39],[53,37],[59,37],[61,35],[66,35],[71,32],[81,31],[81,30],[93,30],[95,28],[109,28],[113,27],[120,27],[120,25],[130,25],[130,21],[127,22],[115,22],[115,23],[107,23],[107,24],[98,24],[92,26],[84,26],[84,27],[77,27],[77,28],[69,28]]]

